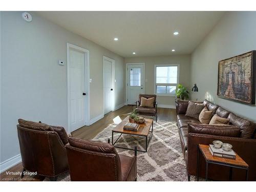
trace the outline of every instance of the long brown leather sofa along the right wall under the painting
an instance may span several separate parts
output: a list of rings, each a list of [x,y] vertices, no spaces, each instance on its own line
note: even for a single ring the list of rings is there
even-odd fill
[[[222,118],[230,120],[229,126],[201,124],[198,119],[185,116],[188,101],[178,100],[176,102],[177,125],[184,160],[186,162],[188,180],[190,175],[197,173],[197,151],[198,144],[211,144],[214,140],[230,143],[233,150],[243,158],[249,165],[249,180],[256,180],[256,124],[243,119],[221,106],[203,101],[209,111]],[[224,128],[224,129],[223,129]],[[205,160],[200,157],[199,176],[205,177]],[[211,164],[208,167],[208,178],[212,180],[228,180],[229,168],[221,165]],[[233,168],[232,180],[245,180],[246,172],[242,169]]]

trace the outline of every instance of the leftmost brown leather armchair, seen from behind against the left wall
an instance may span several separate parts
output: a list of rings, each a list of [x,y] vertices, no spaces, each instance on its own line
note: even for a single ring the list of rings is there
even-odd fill
[[[68,135],[63,127],[18,119],[17,132],[24,170],[56,181],[68,172],[65,145]],[[23,175],[22,175],[23,178]]]

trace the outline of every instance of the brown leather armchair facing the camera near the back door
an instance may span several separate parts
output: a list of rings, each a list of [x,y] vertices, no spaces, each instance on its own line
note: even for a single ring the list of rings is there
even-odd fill
[[[153,108],[146,108],[144,106],[140,106],[141,104],[141,97],[145,98],[152,98],[154,97],[154,104]],[[136,109],[138,110],[139,115],[148,115],[148,116],[154,116],[156,117],[156,122],[157,122],[157,96],[156,95],[146,95],[146,94],[139,94],[139,100],[136,101]]]

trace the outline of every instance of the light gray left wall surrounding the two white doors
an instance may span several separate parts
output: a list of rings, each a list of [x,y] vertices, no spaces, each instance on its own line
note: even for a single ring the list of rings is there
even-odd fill
[[[21,12],[1,13],[1,162],[19,154],[18,118],[67,129],[67,42],[90,51],[91,119],[103,113],[103,55],[115,59],[115,103],[124,103],[123,57],[32,16],[27,23]]]

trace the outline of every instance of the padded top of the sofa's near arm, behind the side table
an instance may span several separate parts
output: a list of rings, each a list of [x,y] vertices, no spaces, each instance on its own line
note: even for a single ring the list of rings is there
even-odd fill
[[[218,135],[218,136],[226,136],[226,137],[239,137],[240,129],[235,125],[226,125],[226,124],[218,124],[218,125],[206,125],[206,124],[195,124],[188,123],[188,133],[199,133],[199,134],[207,134],[207,135]]]

